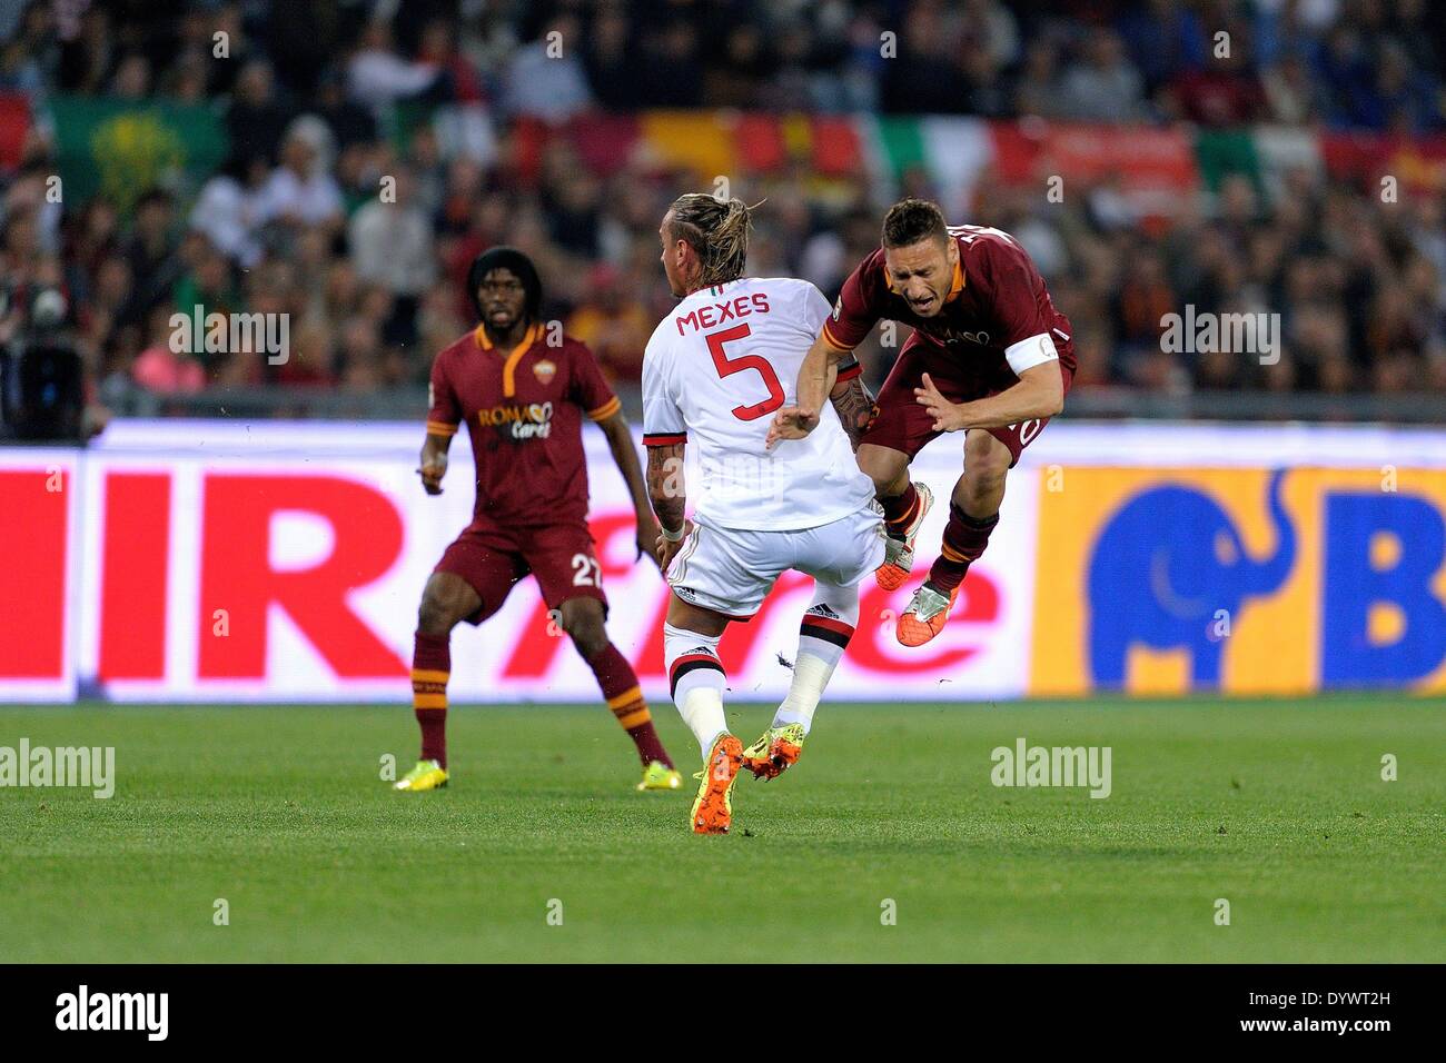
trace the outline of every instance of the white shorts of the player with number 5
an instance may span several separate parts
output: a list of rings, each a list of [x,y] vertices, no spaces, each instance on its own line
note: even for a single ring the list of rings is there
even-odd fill
[[[694,522],[668,565],[668,586],[690,605],[748,619],[790,568],[849,587],[884,564],[884,521],[869,506],[803,531],[746,531]]]

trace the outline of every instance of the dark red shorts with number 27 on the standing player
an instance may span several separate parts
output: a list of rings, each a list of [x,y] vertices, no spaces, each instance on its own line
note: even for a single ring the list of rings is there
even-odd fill
[[[502,609],[528,573],[536,577],[548,609],[560,609],[570,597],[596,597],[607,609],[603,568],[583,522],[515,529],[474,524],[447,547],[432,571],[460,576],[482,597],[467,623],[482,623]]]

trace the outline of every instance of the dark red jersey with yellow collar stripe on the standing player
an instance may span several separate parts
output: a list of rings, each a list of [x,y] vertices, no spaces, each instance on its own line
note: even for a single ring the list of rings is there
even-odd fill
[[[506,359],[482,325],[432,362],[427,431],[467,422],[477,463],[473,525],[547,525],[587,518],[583,417],[622,404],[593,353],[570,336],[555,347],[532,325]]]

